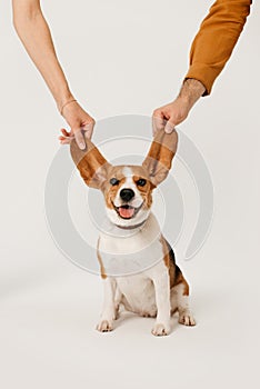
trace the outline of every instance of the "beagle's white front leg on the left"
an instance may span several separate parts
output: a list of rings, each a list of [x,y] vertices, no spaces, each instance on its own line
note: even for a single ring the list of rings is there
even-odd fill
[[[108,332],[113,329],[113,320],[116,319],[114,293],[116,280],[108,277],[103,280],[103,309],[100,322],[97,326],[97,330],[100,332]]]

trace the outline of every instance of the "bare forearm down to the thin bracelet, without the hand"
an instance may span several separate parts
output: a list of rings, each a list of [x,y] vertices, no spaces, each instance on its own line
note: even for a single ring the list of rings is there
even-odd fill
[[[13,0],[13,24],[60,110],[72,98],[38,0]]]

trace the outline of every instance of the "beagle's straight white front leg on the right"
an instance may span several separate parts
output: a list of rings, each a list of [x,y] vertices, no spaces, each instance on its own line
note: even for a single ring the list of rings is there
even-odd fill
[[[170,333],[170,280],[168,268],[164,267],[162,271],[158,271],[152,278],[156,301],[157,301],[157,320],[152,328],[152,335],[163,336]]]

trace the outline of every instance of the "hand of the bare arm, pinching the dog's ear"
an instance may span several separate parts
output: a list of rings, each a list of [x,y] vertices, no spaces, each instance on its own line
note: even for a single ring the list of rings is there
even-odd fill
[[[79,148],[83,150],[86,148],[84,136],[90,139],[93,132],[93,118],[91,118],[77,101],[71,101],[66,104],[61,114],[69,124],[70,131],[61,129],[62,136],[59,137],[60,143],[70,143],[71,139],[76,138]]]

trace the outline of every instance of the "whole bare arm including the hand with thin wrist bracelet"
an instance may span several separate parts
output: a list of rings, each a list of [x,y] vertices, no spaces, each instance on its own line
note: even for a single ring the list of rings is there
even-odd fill
[[[12,7],[18,36],[49,87],[59,111],[70,126],[70,131],[61,130],[60,141],[68,143],[71,137],[76,137],[77,143],[83,149],[83,133],[91,138],[94,120],[72,97],[56,54],[50,29],[41,12],[40,0],[12,0]]]

